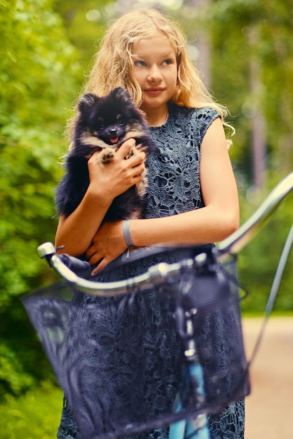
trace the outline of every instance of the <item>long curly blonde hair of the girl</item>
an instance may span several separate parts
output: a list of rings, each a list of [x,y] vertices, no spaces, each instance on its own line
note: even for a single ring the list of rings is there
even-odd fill
[[[177,87],[171,101],[185,107],[213,107],[226,116],[226,107],[216,104],[204,86],[197,67],[188,55],[188,44],[181,30],[155,9],[131,11],[119,18],[105,33],[100,50],[93,59],[93,66],[81,90],[84,93],[108,95],[115,87],[129,90],[137,107],[141,106],[141,87],[134,77],[132,47],[140,39],[164,34],[176,53]]]

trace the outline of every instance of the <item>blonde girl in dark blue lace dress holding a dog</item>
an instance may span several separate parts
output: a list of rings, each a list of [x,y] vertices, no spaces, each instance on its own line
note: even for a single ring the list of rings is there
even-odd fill
[[[158,11],[133,11],[110,27],[82,93],[106,95],[117,86],[127,88],[137,106],[145,112],[157,150],[147,161],[143,153],[124,160],[134,144],[134,140],[128,140],[117,151],[115,160],[103,168],[96,161],[99,153],[93,154],[88,164],[89,188],[69,217],[61,215],[56,232],[56,246],[64,245],[64,251],[70,255],[86,254],[93,266],[92,276],[99,281],[109,280],[105,267],[129,246],[214,243],[226,238],[239,226],[237,187],[223,128],[226,109],[216,104],[204,87],[188,56],[181,31]],[[74,118],[69,132],[72,123]],[[103,222],[115,196],[139,182],[145,167],[148,168],[149,187],[144,218]],[[167,254],[162,255],[163,260],[168,258]],[[146,268],[144,262],[136,262],[131,273],[141,273]],[[114,270],[112,280],[124,275],[123,270]],[[98,303],[97,306],[105,307],[107,315],[112,309],[110,303],[113,306],[112,302]],[[152,389],[154,401],[158,396],[162,397],[162,410],[167,410],[174,403],[181,361],[181,342],[176,335],[171,304],[169,306],[163,297],[153,294],[136,298],[131,304],[122,301],[117,306],[121,337],[119,341],[112,341],[108,349],[117,343],[117,349],[124,349],[136,358],[142,358],[143,352],[148,351],[148,358],[144,358],[139,373],[137,367],[128,365],[127,376],[136,377],[137,381],[131,379],[128,382],[124,377],[125,389],[130,386],[131,395],[135,395],[137,386],[143,381],[149,390]],[[129,327],[131,321],[126,318],[129,313],[140,317],[141,326]],[[157,321],[160,321],[159,328],[153,324]],[[111,316],[108,325],[115,328],[116,324]],[[147,332],[143,329],[145,327],[149,328]],[[219,346],[225,343],[224,337],[229,330],[228,327],[218,328]],[[166,334],[167,347],[160,342]],[[207,349],[208,343],[207,340]],[[101,370],[107,369],[104,363],[107,346],[103,349],[104,354],[96,358],[101,362]],[[220,363],[225,363],[221,353]],[[103,385],[103,380],[114,382],[110,374],[102,375],[97,377],[97,386]],[[116,413],[115,385],[110,386],[108,392]],[[129,391],[126,393],[129,398]],[[140,414],[136,412],[135,398],[132,403],[134,418],[138,419]],[[146,410],[145,407],[141,398],[139,410]],[[155,403],[153,410],[159,410]],[[100,414],[101,424],[103,419],[105,414]],[[243,424],[244,406],[238,401],[223,412],[210,415],[210,438],[243,438]],[[155,428],[135,438],[167,439],[168,435],[168,428]],[[70,407],[65,403],[58,438],[72,437],[81,436]]]

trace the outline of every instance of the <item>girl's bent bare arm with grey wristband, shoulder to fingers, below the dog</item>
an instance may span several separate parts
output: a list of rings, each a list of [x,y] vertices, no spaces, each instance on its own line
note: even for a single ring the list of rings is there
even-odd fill
[[[200,245],[219,242],[239,227],[239,203],[226,137],[220,119],[207,130],[201,146],[200,184],[204,208],[154,219],[131,219],[134,245]],[[101,271],[126,249],[122,222],[105,223],[86,252],[91,264],[103,259],[93,274]]]

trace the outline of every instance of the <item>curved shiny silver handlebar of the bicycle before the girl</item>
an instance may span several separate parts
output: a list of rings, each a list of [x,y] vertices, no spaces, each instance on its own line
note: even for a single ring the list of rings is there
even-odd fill
[[[282,200],[293,189],[293,173],[285,177],[276,187],[271,191],[271,194],[261,203],[254,214],[242,224],[240,229],[231,234],[228,238],[221,241],[213,250],[214,256],[220,262],[230,255],[235,255],[242,248],[252,241],[253,236],[266,222],[268,217],[271,217],[273,212],[278,208]],[[180,247],[178,247],[180,248]],[[165,247],[165,250],[170,250],[170,247]],[[64,278],[66,281],[74,284],[79,290],[88,292],[93,295],[120,295],[127,292],[150,288],[150,286],[160,285],[167,279],[178,278],[183,271],[193,270],[202,266],[207,260],[207,254],[202,252],[193,258],[183,259],[182,261],[168,264],[167,262],[160,262],[151,266],[145,273],[134,276],[133,278],[124,279],[116,282],[93,282],[77,276],[67,264],[62,260],[65,255],[58,255],[52,243],[44,243],[39,245],[39,256],[46,258],[48,264]],[[74,265],[74,259],[69,257]],[[88,264],[85,262],[85,264]],[[89,265],[89,264],[88,264]]]

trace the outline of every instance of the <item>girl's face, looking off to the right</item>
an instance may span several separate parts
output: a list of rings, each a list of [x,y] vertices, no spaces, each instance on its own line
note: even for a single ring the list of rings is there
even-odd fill
[[[134,76],[143,92],[141,109],[166,111],[167,102],[174,95],[177,82],[176,53],[164,34],[134,43],[132,56]]]

